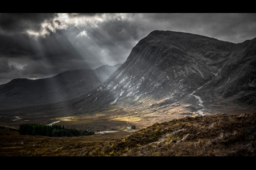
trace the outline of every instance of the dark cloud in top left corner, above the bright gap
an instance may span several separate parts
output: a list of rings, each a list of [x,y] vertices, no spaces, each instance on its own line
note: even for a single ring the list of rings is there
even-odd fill
[[[0,29],[6,33],[23,33],[27,30],[40,31],[41,23],[52,22],[54,13],[2,13],[0,14]]]

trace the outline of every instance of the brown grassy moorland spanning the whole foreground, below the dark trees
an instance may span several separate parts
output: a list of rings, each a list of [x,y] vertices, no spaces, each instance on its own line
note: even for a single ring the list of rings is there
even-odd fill
[[[80,137],[0,130],[0,156],[256,156],[256,113],[184,117],[133,133]]]

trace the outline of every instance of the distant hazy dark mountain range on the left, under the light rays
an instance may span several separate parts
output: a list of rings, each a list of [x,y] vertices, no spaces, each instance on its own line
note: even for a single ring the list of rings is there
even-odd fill
[[[121,64],[95,70],[80,69],[44,79],[13,79],[0,85],[0,108],[11,109],[56,103],[88,93],[100,86]]]

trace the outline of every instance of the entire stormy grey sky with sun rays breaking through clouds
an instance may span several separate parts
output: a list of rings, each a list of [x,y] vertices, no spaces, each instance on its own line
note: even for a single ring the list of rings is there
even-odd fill
[[[256,14],[1,13],[0,84],[123,63],[154,30],[240,43],[256,37]]]

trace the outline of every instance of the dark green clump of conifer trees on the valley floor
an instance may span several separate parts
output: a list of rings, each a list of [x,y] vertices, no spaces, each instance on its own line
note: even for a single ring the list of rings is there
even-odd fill
[[[65,129],[60,125],[40,125],[40,124],[22,124],[19,126],[19,134],[25,135],[44,135],[49,137],[73,137],[80,135],[92,135],[93,131]]]

